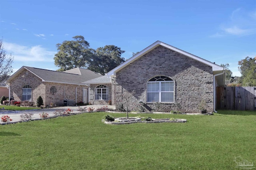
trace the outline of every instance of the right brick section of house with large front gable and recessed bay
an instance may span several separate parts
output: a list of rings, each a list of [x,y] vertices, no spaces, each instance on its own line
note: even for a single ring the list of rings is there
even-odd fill
[[[216,86],[224,86],[223,67],[186,51],[156,41],[107,73],[85,81],[90,86],[92,104],[123,104],[123,96],[134,91],[130,110],[143,106],[151,110],[180,110],[198,113],[206,101],[208,111],[216,111]]]

